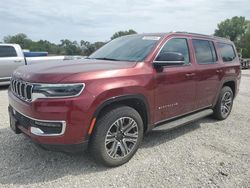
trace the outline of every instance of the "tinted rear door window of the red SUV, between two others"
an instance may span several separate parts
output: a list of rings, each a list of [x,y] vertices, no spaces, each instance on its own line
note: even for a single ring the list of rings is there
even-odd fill
[[[213,42],[207,40],[193,40],[196,60],[199,64],[215,63],[217,55]]]

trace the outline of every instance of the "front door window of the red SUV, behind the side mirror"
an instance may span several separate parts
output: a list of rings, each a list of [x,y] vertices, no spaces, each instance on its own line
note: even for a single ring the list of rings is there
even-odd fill
[[[189,50],[188,50],[188,44],[187,39],[184,38],[173,38],[170,39],[161,49],[161,53],[166,52],[177,52],[181,53],[184,56],[185,64],[188,64],[190,62],[189,60]],[[160,55],[159,54],[159,55]]]

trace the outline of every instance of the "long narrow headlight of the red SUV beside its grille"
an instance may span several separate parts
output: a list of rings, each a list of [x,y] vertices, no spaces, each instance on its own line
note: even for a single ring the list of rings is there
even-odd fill
[[[81,94],[85,84],[34,84],[32,100],[38,98],[67,98]]]

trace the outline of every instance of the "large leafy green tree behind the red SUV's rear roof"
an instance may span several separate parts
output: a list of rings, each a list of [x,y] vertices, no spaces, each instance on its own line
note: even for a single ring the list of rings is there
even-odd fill
[[[239,41],[246,33],[248,21],[245,17],[235,16],[231,19],[226,19],[218,24],[214,35],[219,37],[229,38],[236,46],[239,46]]]

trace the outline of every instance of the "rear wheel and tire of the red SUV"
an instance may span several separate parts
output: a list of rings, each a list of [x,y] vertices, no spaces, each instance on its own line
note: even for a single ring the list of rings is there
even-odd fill
[[[214,117],[218,120],[226,119],[231,113],[233,107],[233,91],[230,87],[224,86],[219,94],[214,107]]]

